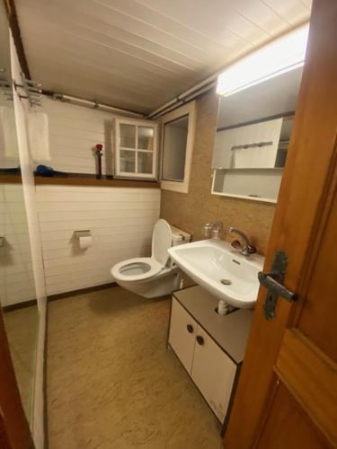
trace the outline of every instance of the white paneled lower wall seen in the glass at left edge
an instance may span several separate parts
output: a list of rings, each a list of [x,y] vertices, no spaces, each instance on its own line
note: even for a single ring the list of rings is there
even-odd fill
[[[31,246],[21,184],[0,186],[0,298],[1,304],[36,298]]]

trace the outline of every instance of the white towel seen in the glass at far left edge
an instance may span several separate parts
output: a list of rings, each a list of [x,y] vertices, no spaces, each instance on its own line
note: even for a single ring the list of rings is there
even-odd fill
[[[19,159],[13,107],[0,106],[0,158]]]

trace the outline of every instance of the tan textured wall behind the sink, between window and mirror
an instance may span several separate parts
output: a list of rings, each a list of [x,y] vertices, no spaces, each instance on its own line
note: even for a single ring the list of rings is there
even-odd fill
[[[202,225],[220,220],[226,226],[243,230],[262,254],[265,253],[275,206],[259,201],[211,195],[212,151],[217,124],[214,91],[197,101],[197,127],[193,148],[189,193],[162,191],[161,216],[170,224],[190,232],[193,240],[202,238]],[[224,236],[233,240],[233,236]]]

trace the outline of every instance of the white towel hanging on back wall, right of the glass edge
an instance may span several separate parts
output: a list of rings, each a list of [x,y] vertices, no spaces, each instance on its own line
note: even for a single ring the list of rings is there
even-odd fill
[[[28,114],[28,136],[34,161],[49,161],[49,122],[44,112]]]

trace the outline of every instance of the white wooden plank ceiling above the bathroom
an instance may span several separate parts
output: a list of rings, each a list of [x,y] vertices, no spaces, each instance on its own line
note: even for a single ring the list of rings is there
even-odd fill
[[[311,0],[15,0],[44,89],[148,113],[309,18]]]

